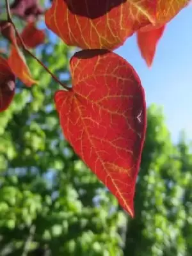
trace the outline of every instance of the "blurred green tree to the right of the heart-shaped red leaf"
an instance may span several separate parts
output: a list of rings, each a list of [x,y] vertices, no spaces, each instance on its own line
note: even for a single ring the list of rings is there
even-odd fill
[[[172,145],[163,115],[150,107],[136,193],[136,219],[128,225],[126,241],[132,242],[127,243],[125,255],[130,250],[143,256],[191,255],[192,165],[189,147],[186,141],[182,143],[185,152],[180,144]],[[136,239],[132,239],[133,234]]]

